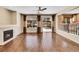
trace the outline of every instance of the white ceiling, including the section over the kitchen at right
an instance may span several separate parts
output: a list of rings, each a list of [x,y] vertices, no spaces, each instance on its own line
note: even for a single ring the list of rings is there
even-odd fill
[[[4,6],[4,8],[8,10],[18,11],[22,14],[38,14],[38,6]],[[79,8],[68,10],[71,8],[71,6],[42,6],[42,8],[47,9],[45,11],[42,11],[41,14],[56,14],[60,11],[62,12],[63,10],[64,13],[79,13]]]

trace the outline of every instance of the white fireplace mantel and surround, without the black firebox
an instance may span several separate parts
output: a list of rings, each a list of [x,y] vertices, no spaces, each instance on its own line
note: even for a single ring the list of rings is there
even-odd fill
[[[15,26],[16,25],[1,25],[0,26],[0,45],[4,45],[14,39],[14,27]],[[8,30],[13,30],[13,37],[8,39],[7,41],[4,41],[4,32]]]

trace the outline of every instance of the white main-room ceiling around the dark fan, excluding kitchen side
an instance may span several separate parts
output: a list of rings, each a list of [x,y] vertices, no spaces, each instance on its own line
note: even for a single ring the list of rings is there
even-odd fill
[[[55,14],[66,7],[64,6],[42,6],[42,8],[47,8],[45,11],[42,11],[42,14]],[[38,6],[5,6],[9,10],[18,11],[23,14],[37,14]]]

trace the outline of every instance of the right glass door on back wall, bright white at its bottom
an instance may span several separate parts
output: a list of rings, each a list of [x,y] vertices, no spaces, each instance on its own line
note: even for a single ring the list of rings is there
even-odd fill
[[[42,32],[52,32],[52,16],[41,16]]]

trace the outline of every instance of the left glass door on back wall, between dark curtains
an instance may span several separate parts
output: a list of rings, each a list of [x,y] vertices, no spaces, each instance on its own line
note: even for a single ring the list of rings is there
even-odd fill
[[[37,16],[27,16],[27,33],[37,32]]]

